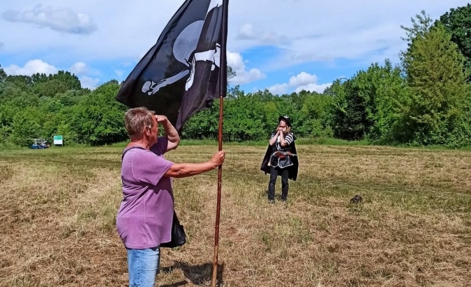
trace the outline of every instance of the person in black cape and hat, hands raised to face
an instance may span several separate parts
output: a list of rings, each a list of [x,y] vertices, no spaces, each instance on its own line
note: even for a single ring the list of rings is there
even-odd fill
[[[268,201],[275,203],[276,178],[281,176],[281,201],[287,200],[290,180],[297,180],[299,160],[297,157],[296,144],[291,131],[291,122],[288,116],[278,118],[278,126],[271,133],[269,146],[262,161],[260,170],[270,174],[268,183]]]

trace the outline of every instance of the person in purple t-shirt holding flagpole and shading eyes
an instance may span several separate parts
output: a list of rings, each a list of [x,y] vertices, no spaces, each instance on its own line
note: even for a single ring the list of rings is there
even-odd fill
[[[145,107],[129,109],[125,118],[130,143],[121,165],[123,201],[117,231],[126,247],[129,286],[153,287],[159,273],[160,245],[171,240],[174,196],[172,178],[195,176],[223,164],[225,151],[207,162],[174,163],[163,156],[177,148],[179,134],[165,116]],[[158,124],[165,137],[158,137]]]

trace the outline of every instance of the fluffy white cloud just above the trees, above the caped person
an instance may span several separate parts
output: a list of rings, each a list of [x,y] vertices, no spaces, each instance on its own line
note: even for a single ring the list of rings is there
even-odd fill
[[[322,93],[325,88],[328,88],[329,86],[331,86],[331,83],[317,84],[316,75],[311,75],[307,72],[300,72],[298,75],[290,77],[290,80],[287,84],[276,84],[270,86],[268,90],[270,93],[274,93],[276,95],[285,94],[293,89],[296,93],[299,93],[303,90]]]

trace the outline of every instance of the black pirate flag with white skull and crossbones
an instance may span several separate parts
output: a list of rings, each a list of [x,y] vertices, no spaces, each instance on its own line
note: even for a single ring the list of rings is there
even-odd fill
[[[116,99],[163,114],[180,131],[196,111],[225,97],[228,1],[186,0]]]

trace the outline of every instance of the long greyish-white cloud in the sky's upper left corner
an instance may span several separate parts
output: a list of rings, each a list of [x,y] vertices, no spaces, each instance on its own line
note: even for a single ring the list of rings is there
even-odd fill
[[[96,24],[91,17],[83,13],[75,13],[70,8],[44,7],[36,5],[31,10],[6,10],[3,19],[10,22],[24,22],[49,27],[54,31],[89,34],[96,31]]]

